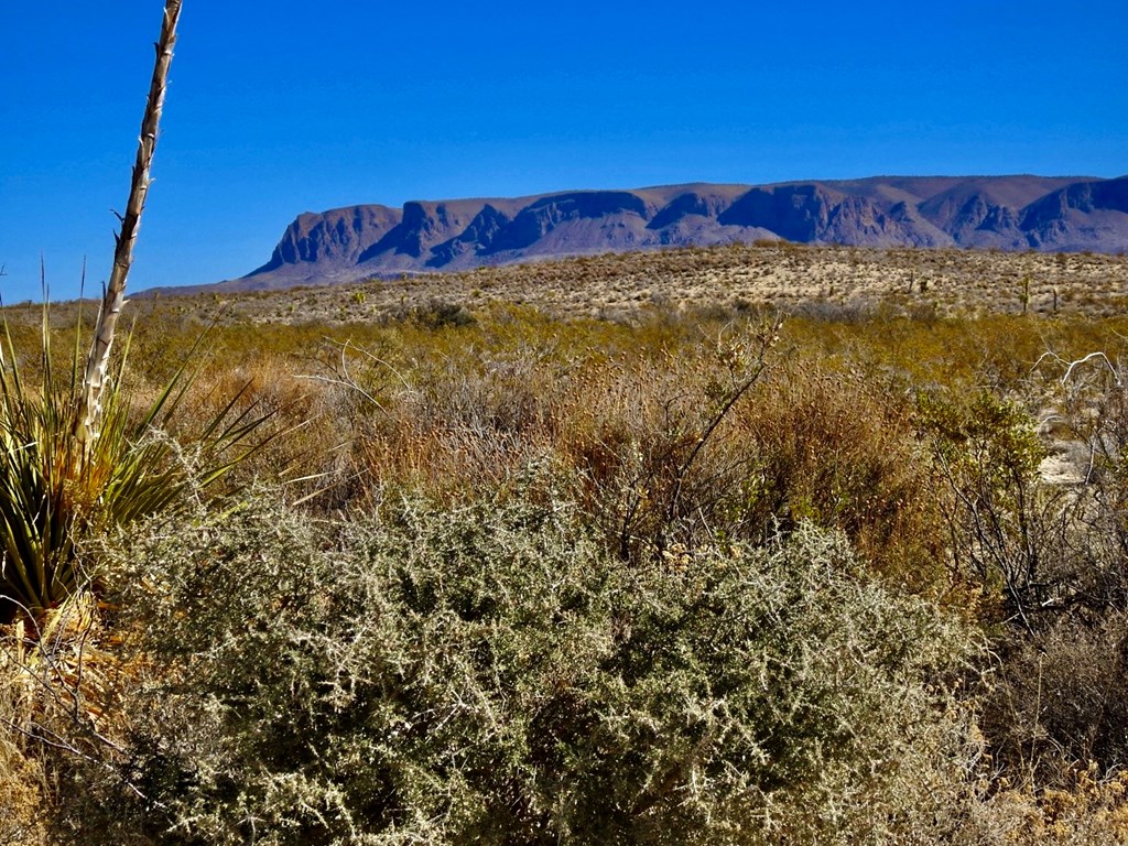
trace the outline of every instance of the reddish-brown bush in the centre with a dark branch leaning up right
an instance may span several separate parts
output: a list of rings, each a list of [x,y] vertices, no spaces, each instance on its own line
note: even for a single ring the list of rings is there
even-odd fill
[[[584,386],[563,448],[624,561],[734,539],[725,512],[751,459],[733,442],[732,420],[768,370],[779,327],[743,320],[677,358],[663,349]]]

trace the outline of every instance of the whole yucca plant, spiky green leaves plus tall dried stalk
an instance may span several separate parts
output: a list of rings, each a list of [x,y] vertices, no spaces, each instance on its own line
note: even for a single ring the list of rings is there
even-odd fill
[[[87,581],[76,555],[76,543],[83,534],[161,511],[176,503],[186,486],[221,477],[247,455],[245,450],[231,457],[229,448],[245,442],[264,420],[253,416],[253,406],[232,414],[236,397],[193,438],[188,450],[194,453],[193,462],[176,441],[161,433],[191,384],[184,369],[136,416],[131,415],[122,388],[126,356],[116,372],[111,368],[109,352],[149,193],[179,15],[180,0],[166,0],[113,270],[83,364],[79,364],[76,335],[70,378],[54,378],[46,305],[39,385],[29,386],[21,378],[10,335],[7,355],[0,350],[0,598],[8,615],[21,610],[37,617],[70,596]]]

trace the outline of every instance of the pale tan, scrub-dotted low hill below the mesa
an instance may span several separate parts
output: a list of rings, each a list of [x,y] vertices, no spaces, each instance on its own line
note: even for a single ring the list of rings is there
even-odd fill
[[[1056,300],[1058,314],[1104,316],[1120,310],[1126,297],[1123,256],[782,244],[609,254],[220,299],[232,319],[238,315],[257,324],[382,319],[434,300],[472,310],[527,303],[554,317],[601,318],[631,317],[646,308],[748,306],[1046,315],[1054,314]],[[173,298],[167,305],[195,310],[209,299]]]

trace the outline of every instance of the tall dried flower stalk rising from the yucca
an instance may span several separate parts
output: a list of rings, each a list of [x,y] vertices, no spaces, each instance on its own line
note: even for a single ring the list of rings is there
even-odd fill
[[[133,165],[130,199],[125,205],[125,214],[121,219],[122,231],[115,237],[114,266],[98,311],[98,323],[86,362],[82,390],[78,395],[74,437],[87,449],[98,437],[100,426],[102,394],[109,365],[109,350],[114,342],[117,318],[125,305],[125,281],[130,273],[130,266],[133,264],[133,245],[141,224],[141,212],[144,211],[146,196],[149,193],[149,168],[157,149],[157,126],[160,123],[160,113],[165,105],[168,69],[173,63],[173,45],[176,43],[176,24],[179,18],[180,0],[167,0],[165,19],[160,27],[160,38],[156,45],[157,62],[152,71],[152,83],[149,87],[149,100],[146,103],[144,117],[141,120],[141,136],[138,139],[138,156]]]

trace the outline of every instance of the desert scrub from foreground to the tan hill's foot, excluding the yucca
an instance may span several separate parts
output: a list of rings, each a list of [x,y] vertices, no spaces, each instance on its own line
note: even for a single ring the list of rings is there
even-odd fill
[[[12,825],[1125,841],[1125,327],[777,318],[220,327],[184,431],[236,385],[305,425],[253,493],[87,535],[100,607],[5,629]]]

